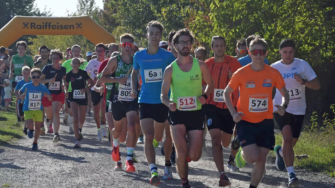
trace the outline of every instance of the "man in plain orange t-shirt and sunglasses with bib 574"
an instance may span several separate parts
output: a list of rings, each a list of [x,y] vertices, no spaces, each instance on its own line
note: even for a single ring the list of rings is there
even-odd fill
[[[279,71],[264,64],[267,43],[256,38],[250,43],[249,55],[252,63],[235,72],[224,90],[224,100],[237,128],[241,147],[236,155],[237,166],[255,163],[249,188],[256,188],[261,181],[267,155],[275,144],[272,89],[276,87],[284,98],[275,112],[284,115],[289,102],[289,94]],[[240,89],[237,110],[231,100],[231,93]]]

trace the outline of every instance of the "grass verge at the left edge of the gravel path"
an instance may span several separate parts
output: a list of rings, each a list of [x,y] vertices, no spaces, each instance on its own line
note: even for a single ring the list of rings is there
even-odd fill
[[[16,121],[15,103],[13,101],[8,111],[0,111],[0,145],[23,136],[23,126],[14,126]]]

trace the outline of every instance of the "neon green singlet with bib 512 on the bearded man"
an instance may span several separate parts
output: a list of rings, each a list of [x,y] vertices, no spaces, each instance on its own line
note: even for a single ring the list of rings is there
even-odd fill
[[[170,100],[177,104],[178,110],[200,110],[201,103],[198,100],[198,97],[202,95],[201,85],[201,70],[199,66],[199,62],[197,59],[193,58],[193,66],[189,72],[183,72],[177,65],[177,61],[172,62],[172,78],[171,78],[171,96]],[[195,98],[179,98],[178,97],[191,97],[195,96]],[[197,101],[197,108],[191,108],[188,110],[188,106],[192,106],[194,104],[194,99]],[[182,107],[180,104],[184,104]],[[182,109],[183,108],[183,109]]]

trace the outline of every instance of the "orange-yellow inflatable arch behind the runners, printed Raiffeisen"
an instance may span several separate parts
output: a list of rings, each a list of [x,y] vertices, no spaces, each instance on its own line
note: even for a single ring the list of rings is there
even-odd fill
[[[22,35],[82,35],[94,45],[115,42],[114,36],[89,16],[15,16],[0,29],[0,46],[8,48]]]

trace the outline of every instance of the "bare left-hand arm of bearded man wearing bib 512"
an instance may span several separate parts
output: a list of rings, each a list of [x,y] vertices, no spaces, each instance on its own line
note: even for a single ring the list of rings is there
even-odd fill
[[[167,96],[170,91],[170,84],[171,84],[171,79],[172,79],[172,71],[173,68],[171,65],[167,66],[164,75],[163,75],[163,83],[162,83],[162,90],[160,93],[160,100],[162,101],[163,104],[165,104],[167,107],[170,108],[171,111],[176,111],[177,110],[177,104],[174,102],[171,102],[169,97]]]

